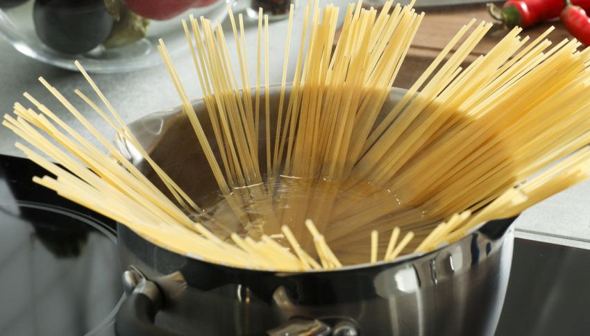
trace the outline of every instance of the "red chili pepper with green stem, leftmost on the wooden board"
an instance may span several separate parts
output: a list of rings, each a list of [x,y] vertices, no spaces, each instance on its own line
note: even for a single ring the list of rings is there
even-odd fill
[[[590,0],[572,0],[575,6],[590,10]],[[488,11],[505,26],[528,28],[539,22],[559,17],[566,8],[564,0],[508,0],[502,8],[488,3]]]

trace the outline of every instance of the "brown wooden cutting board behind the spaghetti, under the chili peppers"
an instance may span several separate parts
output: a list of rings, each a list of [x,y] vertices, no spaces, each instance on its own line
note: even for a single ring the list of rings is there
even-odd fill
[[[453,35],[471,19],[475,18],[487,22],[494,22],[494,19],[490,17],[483,3],[439,8],[416,8],[416,12],[420,12],[421,10],[426,15],[396,78],[394,83],[396,87],[410,87],[428,65],[430,65],[430,62],[446,46]],[[532,40],[534,37],[543,33],[543,31],[546,31],[550,26],[555,26],[555,31],[548,37],[554,44],[564,38],[572,38],[558,20],[528,28],[521,35],[529,35]],[[471,55],[466,59],[464,66],[468,65],[469,62],[472,62],[482,53],[487,53],[508,31],[507,28],[503,28],[500,25],[494,26],[480,44],[475,47]]]

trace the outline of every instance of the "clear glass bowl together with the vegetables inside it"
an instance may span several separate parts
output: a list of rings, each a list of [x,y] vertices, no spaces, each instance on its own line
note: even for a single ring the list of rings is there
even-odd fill
[[[88,72],[127,72],[160,64],[160,37],[172,53],[183,51],[182,17],[224,19],[234,0],[192,1],[165,20],[134,12],[127,4],[134,1],[180,0],[0,0],[0,35],[24,55],[57,67],[76,69],[80,60]]]

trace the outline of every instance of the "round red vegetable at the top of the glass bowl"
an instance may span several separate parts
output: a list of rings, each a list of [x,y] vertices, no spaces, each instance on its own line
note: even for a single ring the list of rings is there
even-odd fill
[[[142,17],[165,20],[189,8],[208,6],[215,0],[124,0],[124,2],[130,10]]]

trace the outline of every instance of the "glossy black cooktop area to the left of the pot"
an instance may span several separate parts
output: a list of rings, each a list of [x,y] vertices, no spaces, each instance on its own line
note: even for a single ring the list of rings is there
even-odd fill
[[[114,335],[123,294],[115,223],[0,156],[0,335]]]

